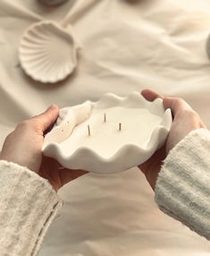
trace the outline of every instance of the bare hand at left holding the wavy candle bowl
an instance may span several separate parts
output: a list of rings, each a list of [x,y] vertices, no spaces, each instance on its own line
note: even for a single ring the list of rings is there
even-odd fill
[[[47,179],[55,191],[87,172],[63,168],[55,159],[42,156],[42,145],[46,130],[55,123],[58,107],[52,105],[41,115],[17,125],[5,141],[0,159],[27,166],[31,171]]]

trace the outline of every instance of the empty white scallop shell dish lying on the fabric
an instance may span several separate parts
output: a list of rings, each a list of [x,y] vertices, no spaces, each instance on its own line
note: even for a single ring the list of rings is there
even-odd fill
[[[54,21],[40,21],[22,35],[21,67],[36,81],[62,81],[76,68],[79,48],[71,30],[63,29]]]

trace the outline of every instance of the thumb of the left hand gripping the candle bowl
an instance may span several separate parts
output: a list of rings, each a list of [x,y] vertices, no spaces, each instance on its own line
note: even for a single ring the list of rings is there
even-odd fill
[[[59,108],[56,105],[52,105],[46,109],[46,111],[40,115],[35,115],[31,119],[40,125],[42,132],[55,123],[59,114]]]

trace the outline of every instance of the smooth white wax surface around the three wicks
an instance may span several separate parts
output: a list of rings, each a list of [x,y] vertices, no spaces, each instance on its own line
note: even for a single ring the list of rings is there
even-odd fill
[[[104,114],[106,114],[106,122],[104,122]],[[110,158],[126,144],[145,148],[151,133],[161,121],[161,116],[153,115],[145,108],[96,108],[93,109],[88,120],[76,126],[71,136],[60,146],[68,155],[73,154],[80,147],[87,147],[103,158]],[[119,123],[122,124],[122,131],[119,131]],[[90,136],[88,136],[88,124]]]

